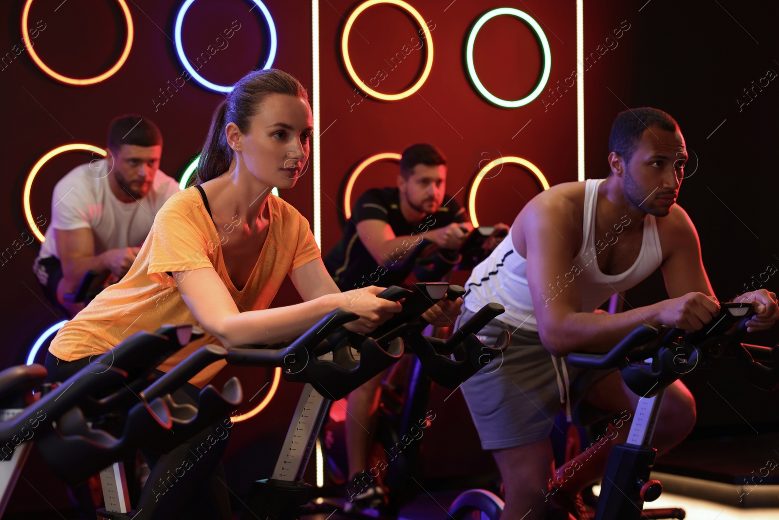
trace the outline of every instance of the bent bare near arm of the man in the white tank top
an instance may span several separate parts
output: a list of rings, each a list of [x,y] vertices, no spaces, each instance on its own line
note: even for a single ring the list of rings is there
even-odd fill
[[[537,197],[531,203],[522,223],[527,242],[527,282],[541,341],[553,355],[603,352],[640,324],[697,330],[717,313],[717,304],[697,292],[624,313],[583,313],[573,239],[581,235],[581,229],[571,218],[576,208],[552,196]],[[516,239],[516,222],[514,227],[512,235]],[[514,246],[520,249],[516,240]]]

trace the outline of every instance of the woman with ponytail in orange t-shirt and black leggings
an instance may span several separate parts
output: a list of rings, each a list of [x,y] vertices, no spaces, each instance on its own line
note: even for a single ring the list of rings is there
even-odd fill
[[[58,332],[46,358],[50,380],[65,380],[94,355],[162,324],[191,323],[206,331],[159,367],[166,372],[209,343],[230,348],[294,338],[338,307],[358,314],[347,328],[361,333],[400,310],[400,303],[376,297],[379,287],[339,292],[308,221],[270,193],[274,186],[294,186],[313,131],[308,95],[294,77],[270,69],[239,80],[213,115],[197,186],[171,196],[125,278]],[[269,309],[287,274],[304,302]],[[442,302],[425,318],[449,324],[460,304]],[[222,366],[203,370],[174,397],[196,403],[199,387]],[[144,453],[151,474],[137,518],[229,520],[220,464],[227,435],[215,424],[166,455]],[[195,455],[190,448],[209,437],[217,442]]]

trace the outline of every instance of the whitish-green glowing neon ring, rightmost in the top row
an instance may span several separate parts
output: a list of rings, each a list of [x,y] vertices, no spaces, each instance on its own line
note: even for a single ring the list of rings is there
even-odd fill
[[[541,48],[543,50],[544,69],[541,71],[541,78],[538,80],[538,85],[536,85],[535,89],[530,92],[530,94],[527,94],[527,96],[523,97],[522,99],[517,99],[516,101],[507,101],[505,99],[501,99],[500,97],[495,96],[489,90],[487,90],[487,88],[481,83],[481,80],[479,80],[479,76],[476,74],[476,68],[474,67],[474,42],[476,41],[476,35],[478,34],[479,30],[481,30],[481,27],[487,23],[489,19],[501,15],[516,16],[517,18],[522,19],[523,22],[527,23],[527,25],[529,25],[530,28],[535,31],[536,36],[538,36],[538,41],[541,42]],[[516,108],[530,103],[530,101],[533,101],[536,97],[538,97],[538,94],[541,94],[541,90],[544,90],[546,82],[549,79],[549,71],[552,69],[552,52],[549,51],[549,42],[546,39],[544,31],[541,30],[541,26],[538,25],[534,19],[530,18],[530,15],[528,15],[526,12],[520,11],[519,9],[501,7],[499,9],[492,9],[492,11],[486,12],[474,24],[473,29],[471,29],[471,33],[468,34],[468,41],[465,48],[465,61],[468,67],[468,76],[471,76],[471,82],[474,83],[474,87],[476,87],[476,90],[479,91],[479,94],[484,96],[488,101],[492,101],[492,103],[501,107]]]

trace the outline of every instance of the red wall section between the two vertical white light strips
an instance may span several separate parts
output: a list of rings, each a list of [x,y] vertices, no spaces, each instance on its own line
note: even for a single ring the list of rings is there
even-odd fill
[[[343,65],[340,41],[344,18],[357,4],[330,3],[333,9],[324,6],[320,15],[321,126],[324,129],[332,124],[321,143],[326,180],[322,202],[324,250],[340,239],[338,214],[344,209],[341,179],[366,157],[388,151],[400,153],[411,143],[428,142],[442,149],[449,165],[446,189],[460,203],[465,202],[478,169],[502,156],[527,159],[541,168],[552,184],[576,180],[575,145],[557,144],[576,143],[575,87],[545,111],[541,97],[524,107],[507,109],[489,103],[471,86],[465,68],[465,42],[473,23],[486,12],[483,2],[414,4],[431,30],[433,65],[421,88],[399,101],[381,101],[355,90]],[[502,5],[527,11],[522,2]],[[532,9],[536,19],[548,24],[544,30],[552,51],[551,84],[552,79],[562,80],[576,69],[576,11],[559,9],[550,2],[536,2]],[[411,16],[393,5],[375,5],[362,12],[349,35],[349,53],[362,81],[369,86],[379,83],[376,90],[383,94],[397,94],[411,87],[430,48],[420,38],[420,29]],[[403,60],[393,60],[399,53]],[[499,97],[518,99],[529,94],[538,80],[541,48],[527,24],[501,16],[490,20],[479,32],[474,62],[490,91]],[[372,165],[355,184],[352,202],[365,189],[394,185],[397,172],[394,162]],[[527,172],[512,165],[502,171],[496,168],[488,177],[476,203],[478,217],[485,224],[510,223],[525,203],[522,197],[530,200],[540,189]],[[504,195],[496,200],[496,193]]]

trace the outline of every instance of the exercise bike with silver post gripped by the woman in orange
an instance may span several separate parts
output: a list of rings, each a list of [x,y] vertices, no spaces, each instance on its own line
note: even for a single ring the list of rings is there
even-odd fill
[[[387,289],[382,297],[404,298],[404,310],[379,327],[374,333],[375,338],[349,333],[343,327],[331,331],[332,327],[356,319],[353,314],[339,310],[333,311],[295,342],[298,348],[306,345],[306,350],[317,345],[313,348],[315,356],[306,358],[305,366],[297,373],[291,373],[291,370],[285,373],[287,380],[304,382],[305,387],[273,476],[259,480],[252,486],[241,518],[295,520],[304,511],[332,513],[334,509],[340,508],[341,504],[317,500],[304,509],[312,486],[304,483],[302,476],[323,420],[333,401],[344,398],[356,387],[392,366],[404,352],[418,357],[431,380],[452,388],[499,356],[508,345],[508,331],[499,338],[495,347],[484,345],[473,335],[503,312],[502,307],[496,304],[485,306],[477,316],[464,324],[461,334],[449,342],[422,336],[421,331],[426,324],[419,317],[442,299],[447,289],[448,284],[439,283],[418,284],[413,291],[397,287]],[[326,336],[325,340],[323,336]],[[400,341],[401,338],[403,341]],[[466,354],[464,359],[449,359],[447,355],[460,343]],[[233,359],[228,357],[228,362],[254,366],[254,359],[262,356],[263,351],[258,349],[231,349]]]

